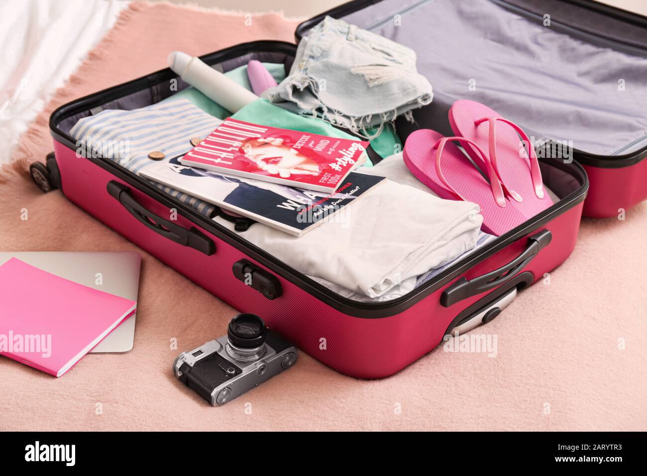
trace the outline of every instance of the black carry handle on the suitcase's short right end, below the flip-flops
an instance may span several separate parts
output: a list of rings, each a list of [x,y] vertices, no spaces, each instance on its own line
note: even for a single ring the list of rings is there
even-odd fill
[[[514,278],[516,271],[523,269],[532,258],[537,256],[540,250],[545,248],[552,239],[553,235],[549,230],[543,230],[529,236],[528,246],[521,255],[514,258],[508,264],[494,271],[490,271],[490,273],[485,275],[470,280],[460,278],[452,286],[443,291],[441,304],[448,308],[463,299],[476,296],[477,294],[488,291],[488,289],[497,288],[501,284],[505,284],[505,282]]]

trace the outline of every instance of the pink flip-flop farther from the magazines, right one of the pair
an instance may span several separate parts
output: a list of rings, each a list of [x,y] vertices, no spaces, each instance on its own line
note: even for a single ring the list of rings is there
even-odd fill
[[[467,99],[452,104],[449,122],[456,135],[476,144],[476,147],[467,144],[465,152],[481,168],[485,164],[477,149],[487,153],[505,195],[516,202],[516,207],[527,218],[553,205],[543,187],[542,172],[531,141],[514,122],[480,102]],[[525,147],[522,148],[522,144]]]

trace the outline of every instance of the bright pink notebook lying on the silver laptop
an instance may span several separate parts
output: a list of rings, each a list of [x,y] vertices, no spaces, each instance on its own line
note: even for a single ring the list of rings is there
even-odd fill
[[[136,307],[11,258],[0,266],[0,354],[60,377]]]

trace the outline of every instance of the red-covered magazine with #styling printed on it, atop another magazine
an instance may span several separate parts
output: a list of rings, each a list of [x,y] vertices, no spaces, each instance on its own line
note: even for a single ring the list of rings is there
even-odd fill
[[[231,176],[334,192],[369,142],[225,119],[180,162]]]

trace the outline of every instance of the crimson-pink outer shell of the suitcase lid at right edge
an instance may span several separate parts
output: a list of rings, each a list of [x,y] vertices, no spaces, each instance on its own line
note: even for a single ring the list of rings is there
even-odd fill
[[[647,198],[647,158],[620,168],[582,164],[589,176],[584,216],[609,218]]]

